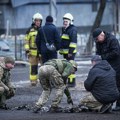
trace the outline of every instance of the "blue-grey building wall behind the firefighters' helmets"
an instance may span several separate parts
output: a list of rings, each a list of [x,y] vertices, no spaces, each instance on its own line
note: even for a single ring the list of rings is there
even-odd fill
[[[48,4],[29,4],[12,8],[10,5],[0,5],[4,14],[4,24],[0,25],[0,29],[5,29],[7,26],[7,20],[10,22],[11,29],[27,29],[31,22],[32,16],[36,12],[40,12],[43,15],[43,24],[45,24],[45,18],[49,15]],[[63,24],[62,16],[70,12],[74,16],[74,24],[81,29],[90,28],[95,20],[96,12],[92,11],[92,4],[58,4],[58,14],[56,26],[61,27]],[[97,4],[99,8],[99,4]],[[113,5],[112,2],[108,2],[103,20],[102,26],[108,26],[112,29],[113,26]],[[83,30],[84,31],[84,30]],[[21,31],[22,33],[22,31]],[[23,32],[24,33],[24,32]]]

